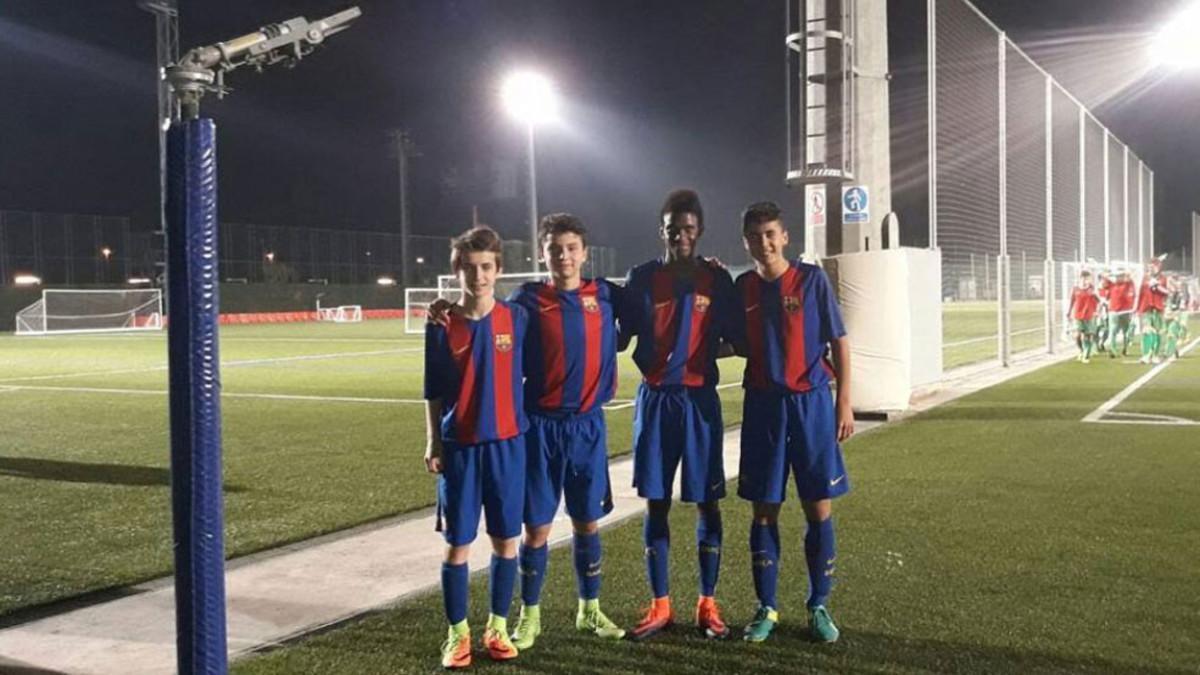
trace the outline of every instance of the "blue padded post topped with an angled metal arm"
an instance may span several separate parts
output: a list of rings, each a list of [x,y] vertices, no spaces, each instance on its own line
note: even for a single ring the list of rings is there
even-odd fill
[[[216,125],[200,118],[208,92],[228,92],[241,66],[295,65],[361,16],[296,17],[228,42],[188,50],[166,68],[180,119],[167,135],[167,347],[170,492],[175,554],[175,644],[182,675],[226,673],[224,538],[221,490],[221,372],[217,350]],[[262,153],[274,151],[270,147]]]

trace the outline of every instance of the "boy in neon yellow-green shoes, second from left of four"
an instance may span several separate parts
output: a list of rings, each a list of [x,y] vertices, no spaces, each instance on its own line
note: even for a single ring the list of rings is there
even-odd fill
[[[526,534],[521,545],[518,650],[541,633],[540,597],[546,580],[546,540],[565,495],[575,530],[575,580],[580,604],[575,627],[619,640],[625,635],[600,611],[600,532],[612,510],[604,410],[617,387],[614,300],[620,288],[583,279],[587,228],[570,214],[541,220],[538,241],[548,282],[521,286],[510,301],[529,312],[526,345]]]

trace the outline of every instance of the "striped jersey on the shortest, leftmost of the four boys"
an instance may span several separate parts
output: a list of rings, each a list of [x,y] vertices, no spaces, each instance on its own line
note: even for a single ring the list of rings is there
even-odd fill
[[[442,440],[504,441],[529,426],[521,389],[529,315],[496,301],[481,319],[451,312],[450,325],[425,327],[425,399],[442,400]]]

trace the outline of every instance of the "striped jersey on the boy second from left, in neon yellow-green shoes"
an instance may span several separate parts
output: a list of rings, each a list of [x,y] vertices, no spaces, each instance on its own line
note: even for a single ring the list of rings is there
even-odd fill
[[[617,389],[614,304],[620,287],[586,279],[576,291],[523,283],[509,298],[529,311],[524,401],[530,411],[588,412]]]

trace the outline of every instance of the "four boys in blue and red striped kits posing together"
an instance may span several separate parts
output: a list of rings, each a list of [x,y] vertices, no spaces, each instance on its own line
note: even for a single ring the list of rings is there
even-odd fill
[[[715,601],[726,485],[716,384],[718,359],[734,353],[746,358],[738,496],[754,504],[750,572],[758,597],[743,637],[766,640],[780,621],[785,544],[778,520],[791,473],[808,521],[810,631],[818,641],[838,639],[826,607],[836,560],[830,513],[832,498],[850,489],[839,442],[853,434],[853,414],[850,344],[830,283],[818,267],[786,257],[787,228],[769,202],[743,213],[743,240],[755,268],[737,281],[697,255],[704,213],[694,191],[667,196],[658,229],[665,255],[635,267],[620,286],[582,277],[587,229],[580,219],[546,216],[539,246],[550,279],[524,283],[508,300],[494,297],[503,267],[499,237],[476,227],[452,243],[462,301],[432,307],[425,350],[425,462],[439,474],[438,520],[440,526],[444,518],[448,544],[445,668],[472,661],[467,558],[481,510],[493,551],[482,634],[491,658],[515,658],[542,633],[547,539],[563,498],[574,528],[576,628],[602,640],[643,640],[670,628],[676,619],[667,516],[678,471],[682,501],[696,504],[695,627],[710,639],[730,635]],[[598,522],[612,509],[602,406],[616,392],[617,352],[635,339],[642,382],[634,485],[646,500],[652,601],[626,634],[600,609]],[[510,632],[518,577],[522,607]]]

